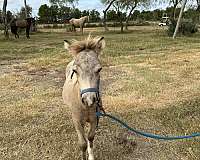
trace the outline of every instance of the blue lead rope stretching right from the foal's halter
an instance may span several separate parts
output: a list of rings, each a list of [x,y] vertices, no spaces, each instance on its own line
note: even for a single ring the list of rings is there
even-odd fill
[[[161,136],[161,135],[146,133],[146,132],[142,132],[142,131],[136,130],[134,128],[131,128],[125,122],[121,121],[120,119],[118,119],[118,118],[116,118],[116,117],[114,117],[110,114],[96,112],[96,115],[97,115],[97,117],[108,117],[108,118],[112,119],[113,121],[121,124],[122,126],[127,128],[131,132],[134,132],[138,135],[142,135],[142,136],[148,137],[148,138],[161,139],[161,140],[179,140],[179,139],[188,139],[188,138],[200,137],[200,133],[193,133],[191,135],[185,135],[185,136]]]

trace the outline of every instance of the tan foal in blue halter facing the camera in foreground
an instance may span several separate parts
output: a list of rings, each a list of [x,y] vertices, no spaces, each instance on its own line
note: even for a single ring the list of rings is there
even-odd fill
[[[94,160],[93,140],[98,118],[96,111],[103,111],[99,94],[100,71],[102,69],[99,56],[105,47],[103,37],[91,38],[70,43],[65,40],[65,48],[74,57],[66,68],[66,80],[62,97],[70,108],[72,120],[78,134],[78,144],[82,151],[82,159]],[[89,124],[85,134],[84,126]]]

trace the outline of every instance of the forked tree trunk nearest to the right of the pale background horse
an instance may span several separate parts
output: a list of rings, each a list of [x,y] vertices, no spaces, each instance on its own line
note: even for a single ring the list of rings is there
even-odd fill
[[[103,26],[104,26],[104,29],[105,31],[108,31],[108,27],[107,27],[107,24],[106,24],[106,19],[107,19],[107,12],[108,10],[110,9],[110,7],[112,6],[112,4],[115,2],[116,0],[101,0],[101,2],[106,5],[106,9],[103,10]]]

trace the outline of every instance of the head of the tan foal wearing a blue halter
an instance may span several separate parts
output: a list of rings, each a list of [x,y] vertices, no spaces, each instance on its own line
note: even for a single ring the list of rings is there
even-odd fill
[[[102,69],[99,55],[105,47],[103,37],[91,38],[84,41],[65,41],[65,48],[74,56],[73,73],[76,74],[82,103],[93,106],[99,100],[100,71]]]

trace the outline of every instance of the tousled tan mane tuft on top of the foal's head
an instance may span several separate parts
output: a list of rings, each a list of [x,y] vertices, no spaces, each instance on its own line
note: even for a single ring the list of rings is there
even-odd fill
[[[101,50],[105,47],[105,42],[99,41],[101,37],[91,37],[90,35],[82,40],[82,41],[76,41],[73,40],[72,44],[69,46],[69,52],[73,55],[77,55],[81,51],[84,50],[94,50],[97,53],[100,53]]]

